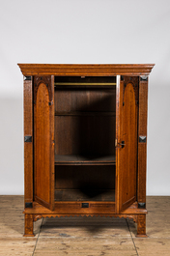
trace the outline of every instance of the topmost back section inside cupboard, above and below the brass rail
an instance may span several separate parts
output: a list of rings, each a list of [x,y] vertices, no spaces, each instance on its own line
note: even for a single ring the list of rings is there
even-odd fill
[[[75,86],[72,83],[115,83],[115,77],[55,77],[55,112],[114,111],[116,86]],[[60,84],[61,82],[61,84]],[[62,83],[72,85],[62,85]]]

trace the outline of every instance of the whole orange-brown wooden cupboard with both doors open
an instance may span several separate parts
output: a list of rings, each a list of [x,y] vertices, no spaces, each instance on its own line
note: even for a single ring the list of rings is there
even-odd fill
[[[18,64],[25,233],[42,217],[132,218],[146,237],[148,76],[154,65]]]

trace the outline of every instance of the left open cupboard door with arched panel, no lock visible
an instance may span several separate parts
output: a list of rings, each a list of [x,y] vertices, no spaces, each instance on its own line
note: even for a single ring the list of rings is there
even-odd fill
[[[34,197],[54,210],[54,76],[34,77]]]

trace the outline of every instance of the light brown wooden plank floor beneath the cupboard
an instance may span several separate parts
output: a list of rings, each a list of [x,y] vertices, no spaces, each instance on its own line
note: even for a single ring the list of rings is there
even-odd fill
[[[170,256],[170,196],[147,198],[147,239],[132,220],[85,216],[40,219],[24,238],[22,209],[23,196],[0,196],[0,255]]]

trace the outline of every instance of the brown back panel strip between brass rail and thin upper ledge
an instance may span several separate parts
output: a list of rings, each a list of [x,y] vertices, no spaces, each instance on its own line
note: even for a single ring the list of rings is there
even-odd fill
[[[55,90],[55,113],[60,112],[115,112],[115,88],[66,88]]]

